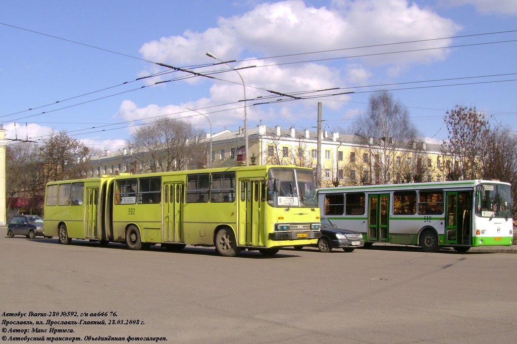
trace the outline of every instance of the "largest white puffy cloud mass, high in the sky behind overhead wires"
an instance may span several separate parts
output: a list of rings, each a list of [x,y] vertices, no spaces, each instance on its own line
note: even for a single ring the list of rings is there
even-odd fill
[[[447,57],[447,50],[429,48],[448,46],[450,40],[349,48],[451,37],[460,29],[452,20],[442,18],[429,8],[418,7],[407,0],[334,0],[331,6],[320,8],[306,5],[301,0],[287,0],[263,3],[242,15],[220,18],[217,27],[208,28],[204,32],[187,30],[181,36],[162,37],[147,42],[142,45],[140,53],[145,59],[173,66],[215,62],[205,56],[207,51],[222,60],[290,55],[268,60],[253,59],[233,65],[234,68],[251,64],[259,66],[239,71],[245,84],[249,86],[246,88],[246,98],[254,99],[258,96],[271,96],[271,93],[265,91],[267,89],[289,93],[367,85],[373,75],[376,79],[384,79],[404,73],[415,64],[442,61]],[[427,50],[378,55],[422,49]],[[318,51],[321,53],[301,54]],[[346,58],[351,56],[356,57]],[[318,61],[320,59],[328,60]],[[284,64],[304,60],[313,62]],[[375,74],[371,71],[371,68],[379,66],[388,67],[383,71],[384,75],[378,75],[378,69]],[[204,71],[208,73],[215,68],[219,67],[210,67]],[[196,71],[203,72],[199,69]],[[244,98],[240,78],[235,72],[217,74],[217,77],[224,81],[214,82],[210,87],[209,99],[193,100],[193,108],[235,103]],[[206,82],[206,79],[201,78],[190,81],[193,80]],[[333,97],[333,100],[348,99],[349,96]],[[240,104],[242,103],[229,105],[227,108],[233,110],[210,117],[215,119],[212,123],[241,121],[242,111],[235,109]],[[251,101],[248,104],[248,119],[265,122],[279,118],[296,121],[305,113],[307,117],[313,116],[315,106],[314,102],[307,101],[282,102],[272,111],[271,108],[252,104]],[[326,106],[337,110],[342,104],[343,102],[328,102]],[[125,101],[121,104],[118,115],[125,119],[148,118],[156,114],[175,113],[180,108],[183,109],[184,105],[148,105],[138,108],[134,103]]]

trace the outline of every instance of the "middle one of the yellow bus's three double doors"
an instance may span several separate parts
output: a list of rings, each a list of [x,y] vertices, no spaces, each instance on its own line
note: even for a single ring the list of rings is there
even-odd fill
[[[183,242],[181,222],[181,202],[183,200],[183,183],[165,183],[163,192],[163,226],[164,242]]]

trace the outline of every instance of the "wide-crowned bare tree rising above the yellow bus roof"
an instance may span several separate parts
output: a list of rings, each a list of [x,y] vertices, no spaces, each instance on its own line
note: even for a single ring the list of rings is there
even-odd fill
[[[138,127],[128,140],[134,158],[151,172],[199,168],[206,164],[202,130],[180,119],[156,119]]]

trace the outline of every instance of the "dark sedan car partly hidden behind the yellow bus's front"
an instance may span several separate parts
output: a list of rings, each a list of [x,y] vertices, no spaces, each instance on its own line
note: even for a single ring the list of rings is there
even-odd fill
[[[330,252],[332,248],[343,248],[345,252],[352,252],[357,247],[364,246],[362,234],[354,230],[336,228],[326,217],[321,218],[322,237],[316,244],[320,252]],[[301,249],[303,246],[295,246]]]

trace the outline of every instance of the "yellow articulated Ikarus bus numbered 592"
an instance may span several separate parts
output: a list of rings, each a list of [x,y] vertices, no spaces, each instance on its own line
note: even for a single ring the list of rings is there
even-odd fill
[[[103,176],[47,184],[45,235],[122,242],[130,249],[161,244],[215,246],[274,255],[321,237],[313,170],[242,166]]]

